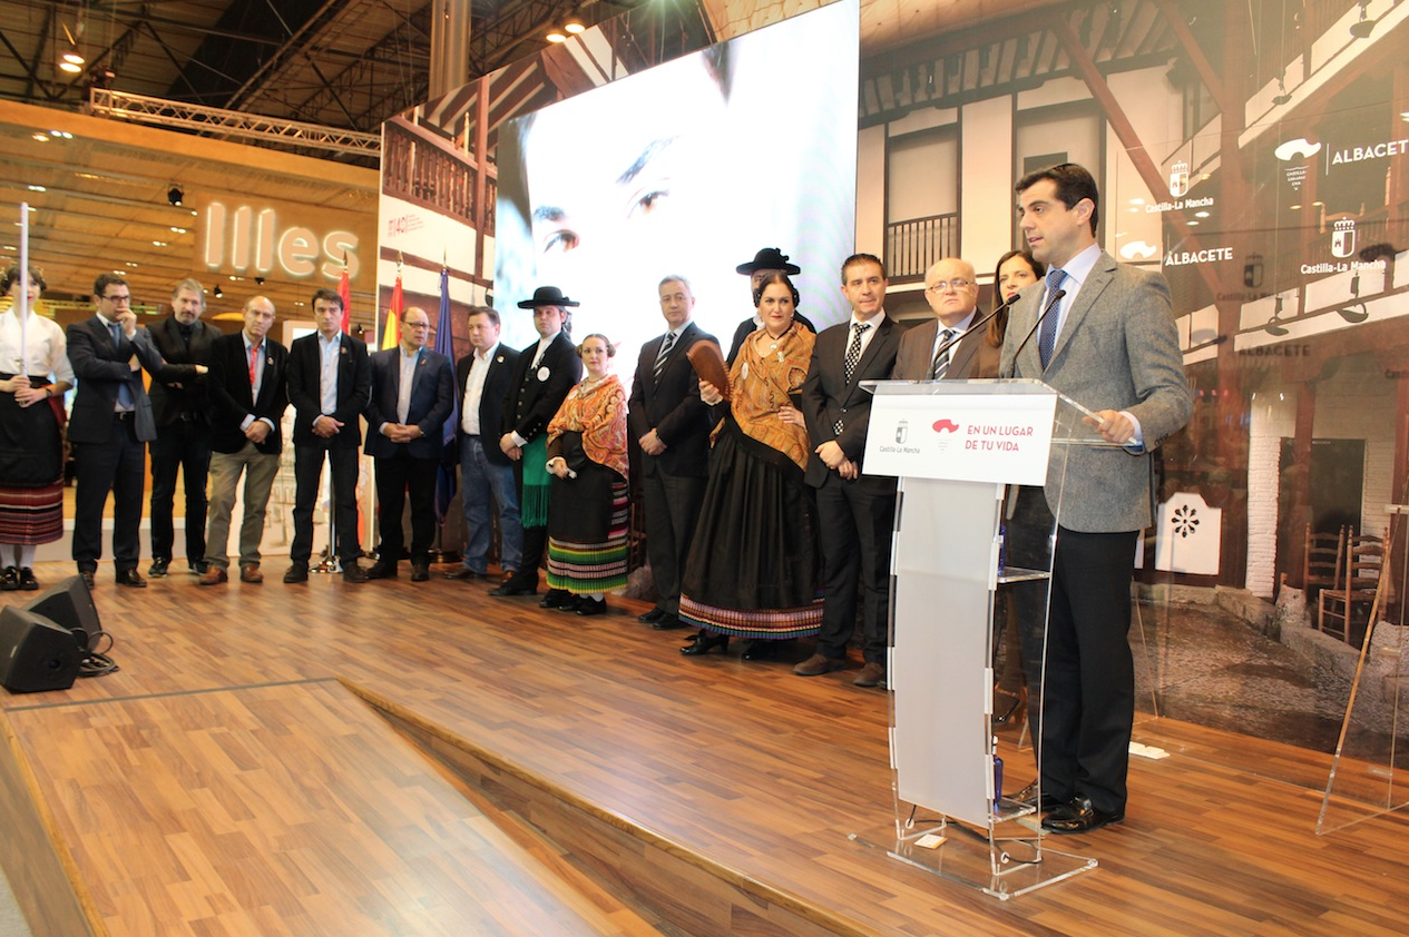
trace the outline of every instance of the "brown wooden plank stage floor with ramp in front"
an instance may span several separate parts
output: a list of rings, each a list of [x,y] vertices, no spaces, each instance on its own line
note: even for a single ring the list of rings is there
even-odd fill
[[[1317,837],[1319,791],[1205,754],[1324,778],[1315,753],[1146,726],[1171,757],[1134,760],[1126,823],[1048,840],[1099,868],[998,902],[848,841],[892,812],[886,696],[854,671],[683,658],[681,632],[620,599],[582,619],[485,584],[283,585],[282,570],[214,588],[182,570],[135,591],[104,566],[94,598],[121,671],[0,696],[15,817],[0,853],[37,937],[79,919],[114,937],[681,933],[661,893],[709,891],[654,888],[640,864],[586,874],[528,831],[531,810],[496,808],[359,695],[723,882],[733,905],[688,912],[693,934],[1409,931],[1409,817]]]

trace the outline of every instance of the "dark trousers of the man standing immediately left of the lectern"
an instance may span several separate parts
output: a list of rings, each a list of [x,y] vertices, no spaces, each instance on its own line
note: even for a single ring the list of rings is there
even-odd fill
[[[817,653],[845,657],[857,630],[862,598],[862,653],[868,664],[885,665],[890,602],[890,535],[895,490],[876,491],[844,481],[836,471],[817,488],[821,532],[821,633]]]

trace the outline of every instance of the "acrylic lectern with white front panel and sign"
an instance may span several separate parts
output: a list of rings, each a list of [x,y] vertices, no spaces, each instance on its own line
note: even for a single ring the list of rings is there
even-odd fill
[[[1044,850],[1036,809],[998,789],[996,758],[1009,791],[1038,771],[1030,753],[993,733],[993,609],[1002,589],[1013,591],[1027,612],[1024,657],[1045,657],[1067,454],[1113,446],[1084,421],[1091,411],[1041,381],[875,381],[869,390],[865,470],[899,478],[886,668],[895,827],[852,839],[1000,899],[1095,868],[1095,860]],[[1050,515],[1010,518],[1023,485],[1024,498],[1045,495]],[[1027,701],[1034,726],[1036,696]]]

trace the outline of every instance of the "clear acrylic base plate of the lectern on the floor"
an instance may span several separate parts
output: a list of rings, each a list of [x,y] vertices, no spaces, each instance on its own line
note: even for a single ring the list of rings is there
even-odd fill
[[[952,822],[929,833],[943,841],[921,846],[927,839],[933,841],[921,833],[898,840],[893,824],[851,833],[847,839],[1005,902],[1096,868],[1096,860],[1044,848],[1040,839],[995,839],[989,844],[986,831]]]

